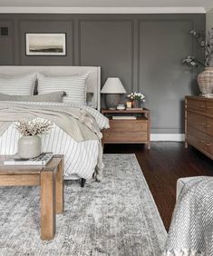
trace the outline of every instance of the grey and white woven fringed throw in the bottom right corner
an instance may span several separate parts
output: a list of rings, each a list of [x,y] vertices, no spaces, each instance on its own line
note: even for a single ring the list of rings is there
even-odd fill
[[[163,255],[213,256],[213,177],[196,177],[183,187]]]

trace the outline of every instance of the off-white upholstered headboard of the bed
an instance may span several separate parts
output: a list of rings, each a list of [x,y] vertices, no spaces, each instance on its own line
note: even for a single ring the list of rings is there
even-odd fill
[[[17,75],[39,72],[46,75],[73,75],[90,72],[87,80],[87,93],[92,94],[92,105],[99,111],[101,108],[101,67],[99,66],[32,66],[32,65],[1,65],[0,75]]]

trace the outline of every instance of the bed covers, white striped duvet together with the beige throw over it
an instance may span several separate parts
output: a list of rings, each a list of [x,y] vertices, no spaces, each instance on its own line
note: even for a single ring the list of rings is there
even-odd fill
[[[5,110],[10,113],[8,117]],[[15,113],[18,113],[17,117]],[[90,179],[96,167],[100,173],[97,178],[101,179],[103,165],[100,130],[109,127],[108,119],[101,113],[88,106],[71,103],[0,103],[0,120],[6,123],[13,119],[19,120],[21,116],[54,122],[53,129],[42,135],[43,151],[64,155],[66,178]],[[66,120],[65,124],[63,119]],[[13,123],[6,125],[5,133],[0,136],[0,154],[13,154],[17,151],[20,135]],[[76,130],[77,126],[79,131]]]

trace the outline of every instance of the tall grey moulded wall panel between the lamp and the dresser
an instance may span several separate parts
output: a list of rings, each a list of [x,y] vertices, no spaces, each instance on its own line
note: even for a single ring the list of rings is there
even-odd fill
[[[181,66],[180,56],[185,57],[187,53],[192,52],[193,44],[189,31],[193,27],[193,21],[169,19],[168,23],[167,19],[154,21],[143,19],[139,20],[138,24],[138,83],[140,90],[147,92],[148,103],[155,104],[155,106],[150,104],[151,129],[158,133],[160,130],[170,130],[170,133],[183,130],[183,122],[180,120],[184,116],[184,110],[181,106],[184,96],[191,94],[193,70],[190,70],[191,75],[187,74],[181,79],[186,67]],[[147,36],[144,37],[144,34]],[[159,44],[156,39],[160,35],[162,37]],[[183,45],[184,40],[186,44]],[[186,54],[183,54],[184,51]],[[150,62],[143,61],[149,58]],[[179,77],[178,81],[176,76]],[[157,107],[159,105],[160,108]],[[172,115],[172,113],[176,114]]]

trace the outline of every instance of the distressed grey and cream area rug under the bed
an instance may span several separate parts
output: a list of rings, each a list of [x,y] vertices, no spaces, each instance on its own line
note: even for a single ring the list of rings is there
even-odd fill
[[[53,241],[40,240],[39,187],[0,188],[0,255],[160,255],[167,233],[135,155],[104,163],[102,182],[65,182]]]

